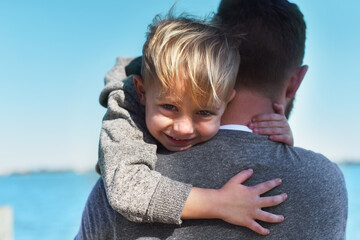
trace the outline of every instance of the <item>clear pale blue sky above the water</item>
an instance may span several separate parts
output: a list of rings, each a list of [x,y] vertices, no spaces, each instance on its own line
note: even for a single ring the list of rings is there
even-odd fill
[[[97,160],[103,77],[141,53],[165,0],[0,2],[0,172],[86,169]],[[360,159],[360,3],[297,0],[308,25],[309,72],[291,117],[295,145]],[[206,16],[219,0],[179,0]]]

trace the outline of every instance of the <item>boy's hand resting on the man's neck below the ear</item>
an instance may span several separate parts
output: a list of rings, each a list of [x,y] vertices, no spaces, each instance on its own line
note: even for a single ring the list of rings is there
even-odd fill
[[[248,125],[254,133],[269,135],[270,140],[294,145],[294,137],[290,125],[284,115],[284,106],[273,104],[275,113],[260,114],[251,120]]]

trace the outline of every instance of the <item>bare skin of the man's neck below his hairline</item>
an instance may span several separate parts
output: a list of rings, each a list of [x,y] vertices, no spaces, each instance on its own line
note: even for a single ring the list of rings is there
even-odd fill
[[[253,117],[273,112],[270,99],[256,92],[237,90],[234,99],[229,102],[221,118],[221,125],[240,124],[246,126]]]

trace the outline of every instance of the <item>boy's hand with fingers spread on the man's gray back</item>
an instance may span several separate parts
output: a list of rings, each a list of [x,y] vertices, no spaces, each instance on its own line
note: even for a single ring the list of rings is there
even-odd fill
[[[284,216],[266,212],[262,208],[284,202],[287,195],[283,193],[271,197],[261,197],[261,194],[279,186],[281,180],[273,179],[251,187],[242,185],[252,174],[252,169],[242,171],[218,190],[220,202],[217,208],[218,214],[222,220],[228,223],[248,227],[261,235],[267,235],[270,233],[269,229],[263,228],[255,220],[270,223],[284,221]]]

